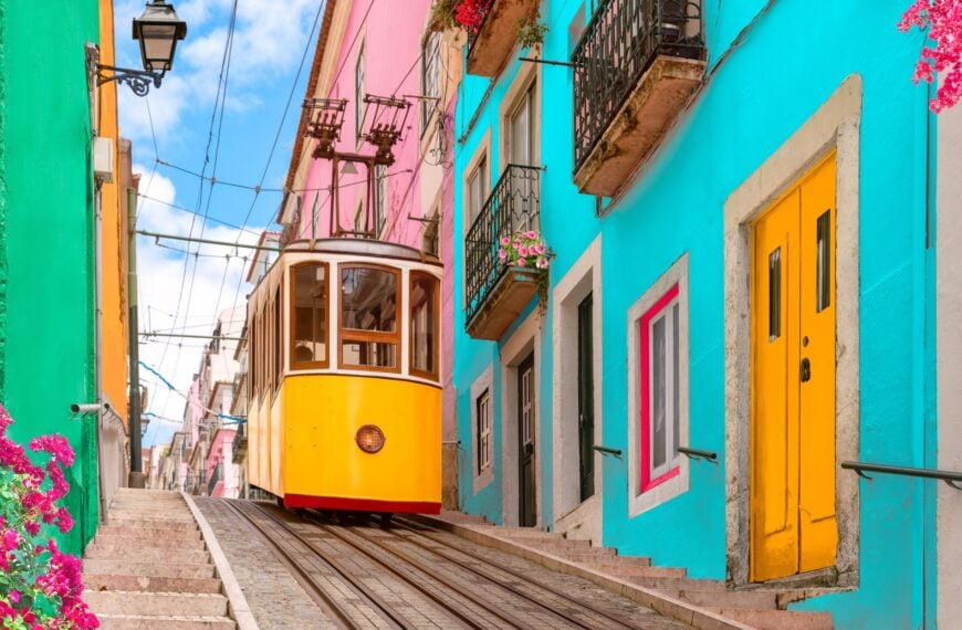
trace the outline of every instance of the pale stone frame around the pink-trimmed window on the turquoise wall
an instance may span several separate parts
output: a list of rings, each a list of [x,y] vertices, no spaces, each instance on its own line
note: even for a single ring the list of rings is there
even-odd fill
[[[676,453],[673,461],[667,458],[663,473],[678,468],[678,474],[665,479],[656,484],[641,487],[641,318],[660,302],[671,288],[678,285],[678,295],[667,304],[663,313],[669,313],[669,307],[677,301],[678,304],[678,402],[679,402],[679,435],[678,444],[689,445],[689,311],[688,311],[688,254],[678,259],[661,277],[659,277],[641,297],[628,309],[628,516],[636,517],[652,507],[661,505],[675,498],[689,489],[689,461],[688,458]],[[659,313],[661,315],[661,313]],[[649,325],[657,319],[652,319]],[[651,357],[649,356],[649,361]],[[650,363],[649,363],[650,365]],[[669,443],[670,435],[669,435]],[[650,445],[649,445],[650,447]],[[650,464],[652,458],[647,458]],[[662,469],[659,469],[662,470]],[[658,480],[650,471],[649,480]]]

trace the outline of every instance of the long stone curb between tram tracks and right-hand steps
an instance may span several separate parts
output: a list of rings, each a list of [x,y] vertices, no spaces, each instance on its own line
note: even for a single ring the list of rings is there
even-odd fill
[[[669,597],[662,592],[651,590],[629,581],[618,579],[617,577],[608,576],[585,567],[578,566],[575,563],[554,556],[552,554],[532,549],[517,543],[479,531],[469,524],[450,523],[435,516],[425,516],[422,514],[407,515],[415,521],[443,529],[472,543],[484,545],[500,552],[509,553],[513,556],[524,558],[525,560],[538,564],[547,569],[552,569],[565,575],[584,578],[592,581],[602,588],[627,597],[632,601],[637,601],[642,606],[647,606],[652,610],[682,621],[690,623],[702,630],[755,630],[753,626],[746,626],[738,621],[726,619],[721,615],[705,610],[704,608],[693,606],[687,601],[681,601],[673,597]],[[487,525],[485,527],[490,527]]]

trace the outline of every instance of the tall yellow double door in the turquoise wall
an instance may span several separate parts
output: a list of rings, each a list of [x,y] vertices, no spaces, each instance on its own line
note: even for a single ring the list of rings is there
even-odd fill
[[[835,564],[835,155],[754,224],[751,579]]]

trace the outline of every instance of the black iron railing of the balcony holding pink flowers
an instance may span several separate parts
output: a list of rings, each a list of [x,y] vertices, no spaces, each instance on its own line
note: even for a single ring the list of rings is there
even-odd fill
[[[511,164],[504,169],[466,239],[466,311],[471,322],[508,270],[498,258],[503,237],[538,229],[541,167]]]

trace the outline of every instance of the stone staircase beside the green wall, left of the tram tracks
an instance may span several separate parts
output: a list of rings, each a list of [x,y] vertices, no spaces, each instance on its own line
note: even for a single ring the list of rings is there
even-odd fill
[[[210,553],[176,492],[118,489],[83,561],[84,599],[106,630],[227,630]]]

